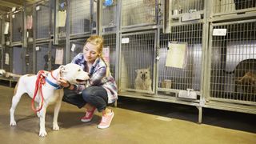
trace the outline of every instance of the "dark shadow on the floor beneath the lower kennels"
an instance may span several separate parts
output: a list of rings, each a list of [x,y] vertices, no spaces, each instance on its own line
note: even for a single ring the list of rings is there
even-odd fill
[[[156,102],[138,98],[119,97],[118,107],[127,110],[139,111],[146,114],[155,114],[162,117],[177,118],[190,122],[198,122],[198,109],[195,106],[186,106],[170,102]],[[256,133],[256,115],[226,110],[203,108],[202,123],[233,130],[242,130]]]

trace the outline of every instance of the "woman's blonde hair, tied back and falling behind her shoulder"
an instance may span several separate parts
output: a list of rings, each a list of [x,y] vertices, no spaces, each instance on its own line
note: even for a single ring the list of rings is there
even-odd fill
[[[104,44],[104,39],[99,36],[99,35],[92,35],[90,38],[86,40],[86,43],[90,42],[90,44],[97,46],[98,48],[98,57],[102,58],[103,62],[106,64],[106,77],[110,75],[110,66],[109,63],[106,62],[106,59],[102,53],[103,51],[103,44]]]

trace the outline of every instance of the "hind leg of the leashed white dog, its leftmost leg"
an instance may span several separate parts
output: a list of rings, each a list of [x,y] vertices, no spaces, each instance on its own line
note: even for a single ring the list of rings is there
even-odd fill
[[[10,126],[16,126],[14,112],[15,112],[16,106],[18,105],[18,102],[22,98],[22,94],[25,93],[25,90],[22,87],[18,87],[18,83],[15,86],[14,97],[12,98],[12,105],[10,107]]]

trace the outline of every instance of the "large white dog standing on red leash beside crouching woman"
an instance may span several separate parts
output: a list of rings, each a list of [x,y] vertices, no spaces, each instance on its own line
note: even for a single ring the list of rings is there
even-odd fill
[[[42,106],[42,109],[38,111],[38,117],[40,118],[40,131],[39,136],[45,137],[46,127],[45,127],[45,116],[46,116],[46,108],[50,104],[55,104],[54,107],[54,122],[53,122],[53,130],[59,130],[58,127],[58,112],[61,107],[62,97],[63,97],[63,89],[61,86],[58,86],[57,79],[61,77],[66,79],[66,81],[71,84],[81,84],[89,79],[88,73],[82,70],[81,66],[70,63],[66,66],[60,66],[58,69],[46,74],[46,83],[42,85],[42,94],[43,94],[43,104],[39,104]],[[35,83],[37,80],[37,75],[26,74],[19,78],[17,85],[14,90],[14,97],[12,99],[12,106],[10,108],[10,126],[16,126],[16,122],[14,119],[14,111],[22,94],[28,94],[31,98],[34,95]],[[38,91],[35,102],[40,103],[41,97]]]

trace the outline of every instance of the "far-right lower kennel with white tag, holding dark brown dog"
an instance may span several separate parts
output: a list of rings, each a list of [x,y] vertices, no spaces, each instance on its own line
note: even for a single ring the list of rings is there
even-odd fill
[[[249,71],[256,74],[255,24],[255,19],[252,19],[210,25],[210,76],[206,106],[256,112],[255,82],[239,82]],[[216,32],[219,30],[224,30],[224,33]],[[250,62],[242,63],[248,59]]]

